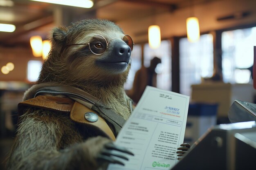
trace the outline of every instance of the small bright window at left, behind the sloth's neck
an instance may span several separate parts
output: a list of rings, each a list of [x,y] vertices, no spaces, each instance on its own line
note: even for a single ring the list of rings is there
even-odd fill
[[[27,63],[27,79],[29,82],[36,82],[42,67],[42,62],[38,60],[30,60]]]

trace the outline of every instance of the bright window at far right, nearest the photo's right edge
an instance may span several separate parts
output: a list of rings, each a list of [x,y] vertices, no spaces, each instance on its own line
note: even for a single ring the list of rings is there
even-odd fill
[[[223,81],[248,83],[256,46],[256,27],[224,31],[221,41]]]

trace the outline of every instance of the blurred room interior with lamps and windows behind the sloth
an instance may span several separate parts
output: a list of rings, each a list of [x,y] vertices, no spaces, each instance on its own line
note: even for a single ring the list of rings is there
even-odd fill
[[[141,66],[148,67],[155,56],[162,60],[155,69],[157,87],[190,96],[185,142],[193,144],[209,127],[229,123],[234,99],[255,103],[256,0],[77,0],[78,7],[44,1],[0,0],[1,162],[15,136],[17,104],[47,57],[49,31],[85,18],[111,20],[135,42],[126,91]],[[50,0],[57,1],[65,2]],[[83,3],[92,7],[81,7]],[[191,17],[198,20],[200,31],[195,21],[187,27]],[[158,26],[161,38],[153,44],[151,25]],[[200,32],[198,38],[188,39],[191,31]]]

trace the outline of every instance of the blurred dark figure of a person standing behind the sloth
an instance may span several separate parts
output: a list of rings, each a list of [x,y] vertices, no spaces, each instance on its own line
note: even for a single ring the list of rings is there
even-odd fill
[[[154,57],[150,61],[150,66],[141,68],[135,73],[132,89],[127,92],[127,95],[137,104],[141,98],[146,86],[157,86],[157,73],[155,68],[161,63],[161,59]]]

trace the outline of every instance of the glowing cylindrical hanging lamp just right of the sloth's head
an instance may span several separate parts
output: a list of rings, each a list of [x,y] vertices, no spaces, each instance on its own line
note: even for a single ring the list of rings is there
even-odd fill
[[[157,49],[161,44],[161,33],[158,25],[148,27],[148,43],[150,48]]]

